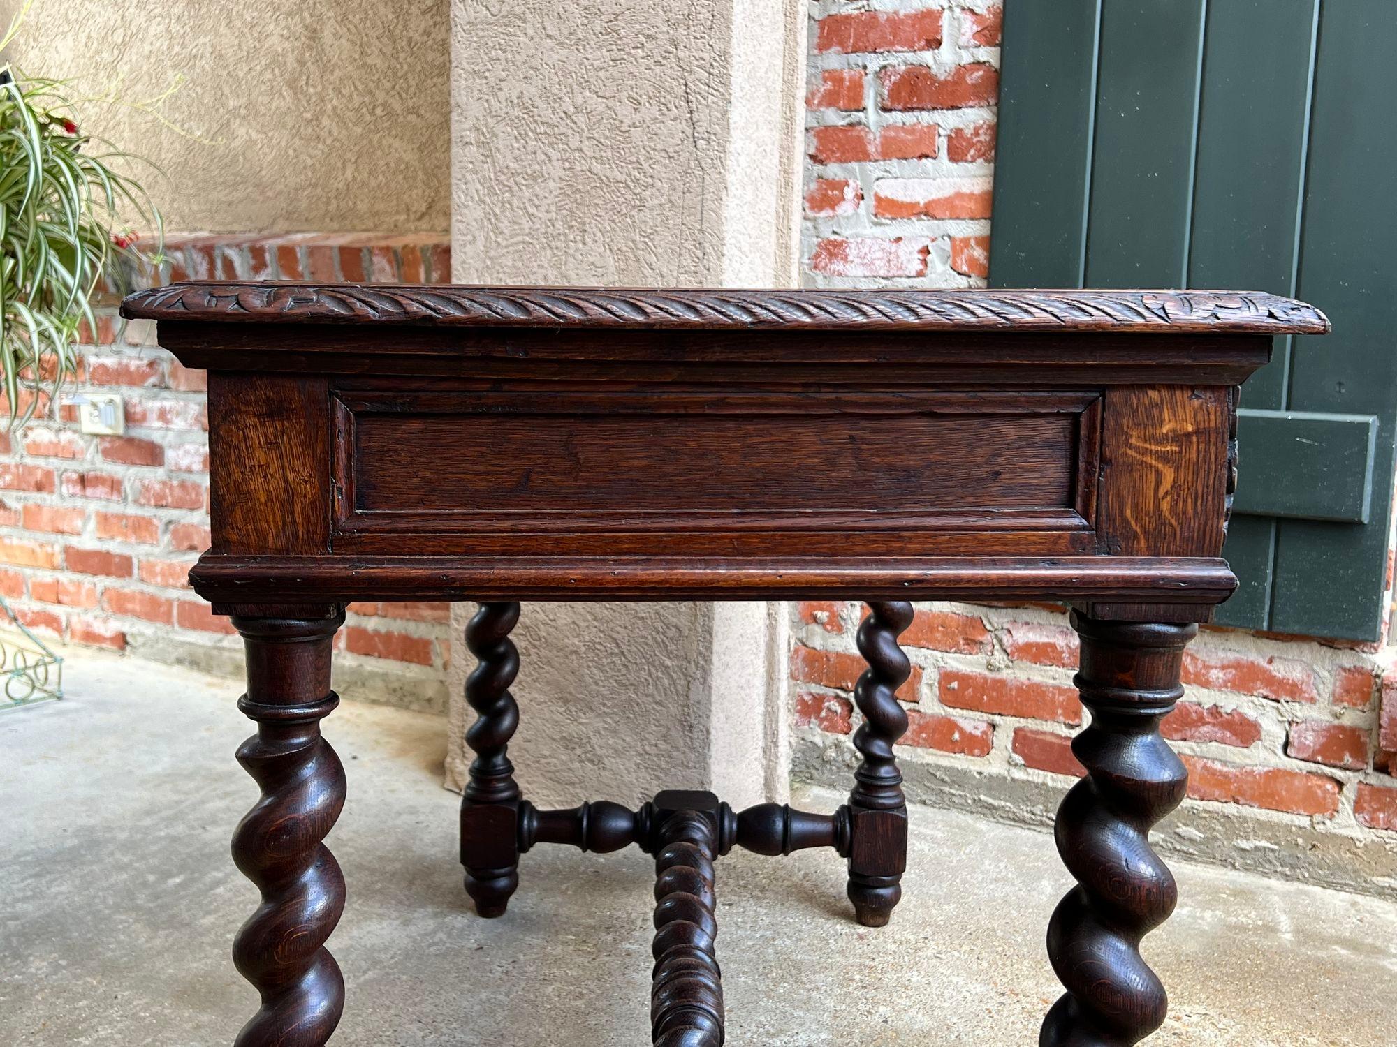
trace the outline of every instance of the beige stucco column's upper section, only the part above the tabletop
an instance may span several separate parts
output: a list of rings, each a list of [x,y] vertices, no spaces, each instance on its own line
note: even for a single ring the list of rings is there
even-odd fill
[[[457,279],[792,282],[800,10],[454,0]]]

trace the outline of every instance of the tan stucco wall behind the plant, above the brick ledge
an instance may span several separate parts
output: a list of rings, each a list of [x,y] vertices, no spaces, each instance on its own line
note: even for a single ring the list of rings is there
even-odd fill
[[[8,24],[20,0],[0,0]],[[448,0],[36,0],[10,57],[81,95],[184,87],[163,112],[204,144],[94,102],[147,156],[182,232],[439,232],[448,221]]]

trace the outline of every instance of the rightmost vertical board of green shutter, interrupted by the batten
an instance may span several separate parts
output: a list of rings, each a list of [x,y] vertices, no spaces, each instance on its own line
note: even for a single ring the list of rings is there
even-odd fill
[[[1291,410],[1376,415],[1366,526],[1281,521],[1271,628],[1377,639],[1397,416],[1397,10],[1326,0],[1310,123],[1299,293],[1334,321],[1298,338]]]

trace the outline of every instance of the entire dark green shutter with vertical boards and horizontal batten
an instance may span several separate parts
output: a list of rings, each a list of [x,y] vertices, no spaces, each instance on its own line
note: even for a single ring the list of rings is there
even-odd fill
[[[1218,621],[1377,639],[1397,441],[1397,3],[1006,0],[990,285],[1270,290]]]

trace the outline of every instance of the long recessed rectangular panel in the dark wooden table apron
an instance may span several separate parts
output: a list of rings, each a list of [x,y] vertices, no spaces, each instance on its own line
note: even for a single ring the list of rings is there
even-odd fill
[[[592,511],[644,518],[1073,505],[1077,415],[1051,403],[1023,413],[939,412],[888,396],[882,412],[862,413],[821,410],[813,396],[752,405],[570,399],[534,409],[515,402],[506,412],[461,398],[450,413],[408,406],[356,415],[355,511],[571,510],[585,526]],[[943,454],[951,444],[954,458]]]

